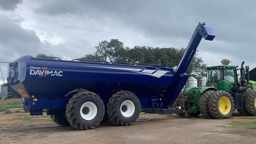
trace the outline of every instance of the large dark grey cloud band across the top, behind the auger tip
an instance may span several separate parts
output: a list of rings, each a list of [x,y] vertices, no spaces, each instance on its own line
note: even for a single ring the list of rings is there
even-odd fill
[[[242,1],[84,1],[53,0],[42,3],[35,12],[46,15],[85,15],[107,19],[145,33],[148,37],[182,37],[193,31],[198,21],[214,26],[222,41],[253,40],[256,2]],[[224,32],[225,31],[225,32]],[[239,33],[239,35],[237,34]],[[218,39],[218,38],[217,38]]]

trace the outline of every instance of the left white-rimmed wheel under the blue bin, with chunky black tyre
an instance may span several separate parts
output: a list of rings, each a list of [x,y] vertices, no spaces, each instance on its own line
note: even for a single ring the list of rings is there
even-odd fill
[[[100,124],[105,107],[101,98],[90,91],[79,92],[70,98],[66,115],[70,125],[79,130],[93,129]]]

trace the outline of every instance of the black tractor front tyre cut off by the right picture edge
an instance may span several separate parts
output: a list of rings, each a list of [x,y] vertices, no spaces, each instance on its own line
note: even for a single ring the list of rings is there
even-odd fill
[[[250,115],[256,116],[256,90],[250,90],[245,96],[245,109]]]

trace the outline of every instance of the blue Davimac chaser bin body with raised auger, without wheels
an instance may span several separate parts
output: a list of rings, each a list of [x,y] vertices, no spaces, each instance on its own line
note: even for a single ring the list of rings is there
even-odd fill
[[[86,90],[98,94],[105,107],[113,94],[128,90],[139,98],[142,111],[152,108],[144,110],[154,113],[156,107],[162,114],[176,113],[167,109],[186,84],[186,70],[202,37],[212,41],[215,35],[210,27],[198,23],[175,72],[164,66],[35,59],[28,55],[9,64],[6,85],[24,98],[24,110],[31,115],[41,115],[43,109],[56,114],[66,109],[74,94]]]

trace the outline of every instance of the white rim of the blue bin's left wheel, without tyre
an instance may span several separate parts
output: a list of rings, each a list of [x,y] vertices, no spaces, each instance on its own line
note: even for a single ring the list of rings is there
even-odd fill
[[[92,120],[97,114],[97,107],[93,102],[85,102],[80,108],[80,115],[85,120]]]

